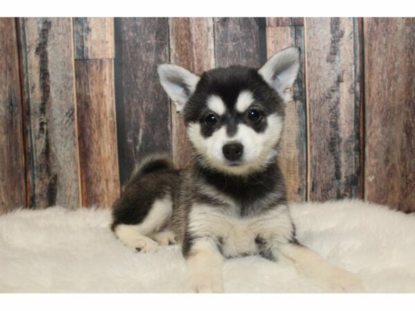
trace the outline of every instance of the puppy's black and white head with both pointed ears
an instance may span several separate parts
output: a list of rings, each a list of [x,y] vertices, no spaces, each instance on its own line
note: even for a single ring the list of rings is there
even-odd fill
[[[284,123],[287,88],[299,69],[298,48],[286,48],[259,69],[216,68],[195,75],[158,66],[165,91],[183,113],[187,135],[203,164],[246,175],[274,160]]]

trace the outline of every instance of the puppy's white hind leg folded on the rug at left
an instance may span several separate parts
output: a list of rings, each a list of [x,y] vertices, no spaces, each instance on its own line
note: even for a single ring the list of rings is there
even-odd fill
[[[155,233],[168,222],[170,216],[172,216],[172,200],[169,196],[165,196],[163,199],[154,200],[148,214],[140,223],[136,225],[120,223],[113,227],[113,231],[128,247],[139,252],[154,252],[158,248],[158,243],[150,237],[155,236]]]

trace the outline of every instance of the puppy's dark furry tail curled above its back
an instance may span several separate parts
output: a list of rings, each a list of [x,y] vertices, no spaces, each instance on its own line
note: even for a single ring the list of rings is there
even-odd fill
[[[131,178],[140,177],[162,169],[174,169],[172,157],[167,153],[151,153],[136,164]]]

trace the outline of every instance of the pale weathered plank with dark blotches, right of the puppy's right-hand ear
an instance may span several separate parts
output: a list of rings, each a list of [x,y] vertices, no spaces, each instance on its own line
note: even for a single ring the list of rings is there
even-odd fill
[[[306,18],[308,198],[358,197],[359,42],[356,19]]]

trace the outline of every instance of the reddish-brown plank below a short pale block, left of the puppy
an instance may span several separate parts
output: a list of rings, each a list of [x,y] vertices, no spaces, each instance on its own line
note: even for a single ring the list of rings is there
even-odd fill
[[[75,61],[82,206],[110,207],[120,195],[113,60]]]

